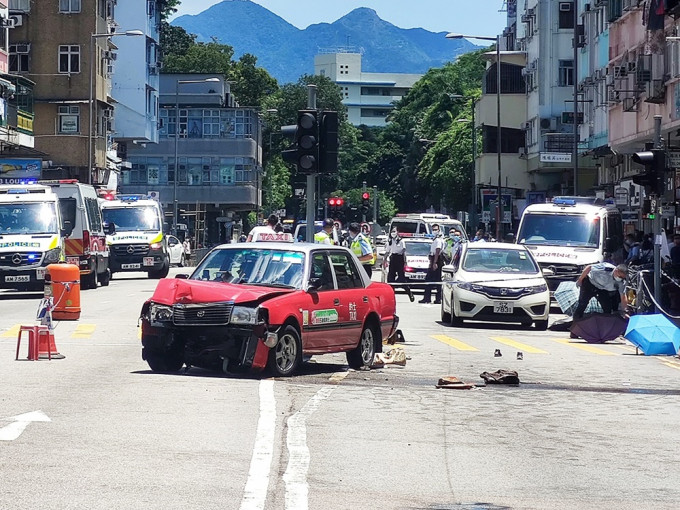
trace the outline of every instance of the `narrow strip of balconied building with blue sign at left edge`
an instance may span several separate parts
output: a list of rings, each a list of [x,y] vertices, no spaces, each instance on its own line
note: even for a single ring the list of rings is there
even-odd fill
[[[34,149],[33,86],[16,74],[20,62],[10,58],[10,33],[22,18],[10,15],[10,3],[0,0],[0,184],[40,178],[43,154]],[[16,52],[13,52],[15,54]]]

